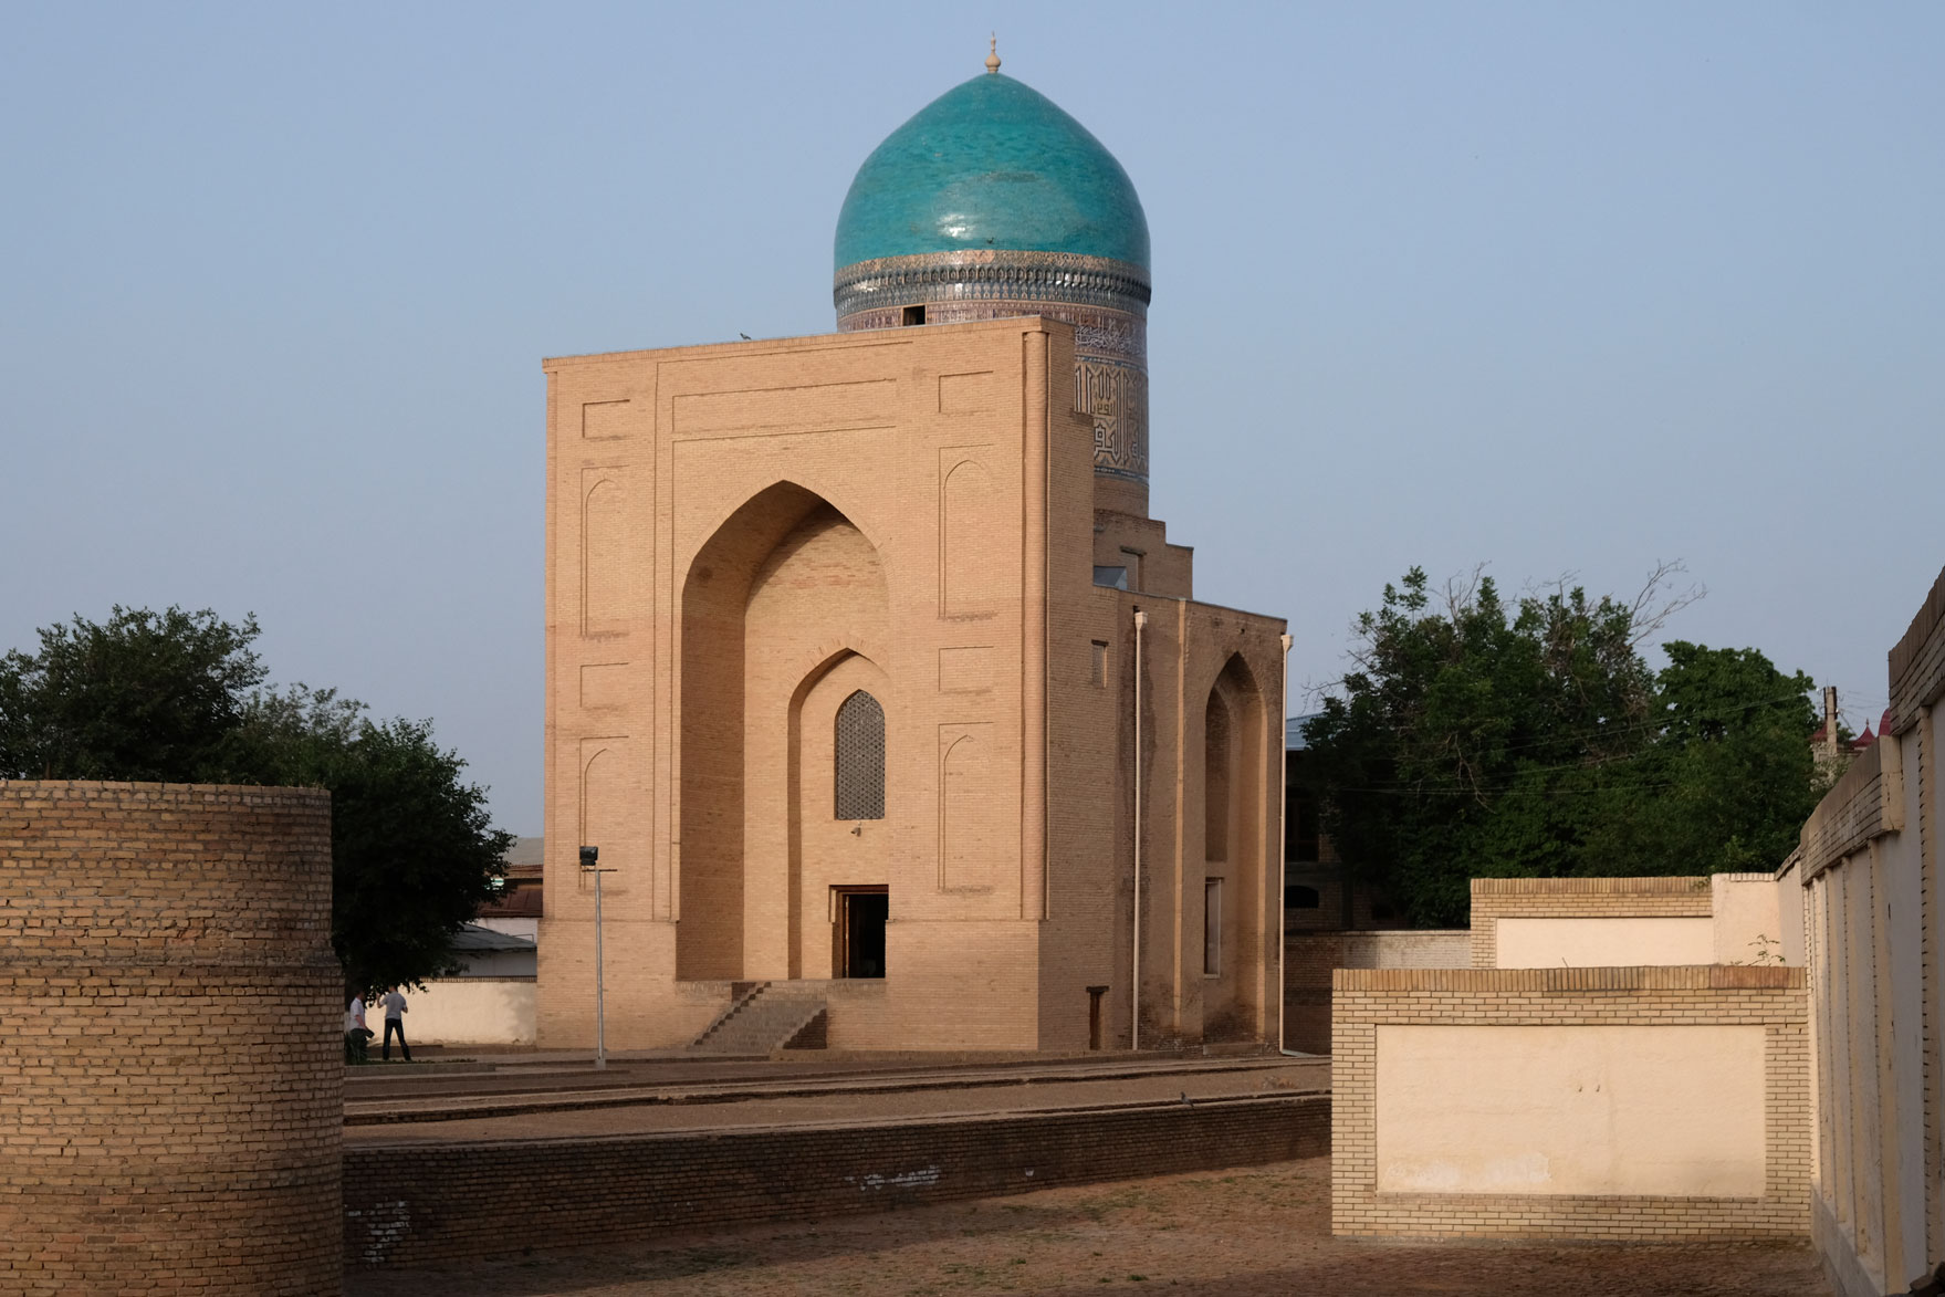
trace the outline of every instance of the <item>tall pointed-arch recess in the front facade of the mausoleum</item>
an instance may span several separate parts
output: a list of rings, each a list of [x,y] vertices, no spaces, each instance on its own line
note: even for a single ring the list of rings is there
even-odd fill
[[[797,484],[753,496],[689,564],[679,980],[844,972],[844,889],[889,885],[887,642],[877,546]],[[856,751],[871,710],[860,696],[877,712],[875,801],[860,801],[860,776],[871,791]]]

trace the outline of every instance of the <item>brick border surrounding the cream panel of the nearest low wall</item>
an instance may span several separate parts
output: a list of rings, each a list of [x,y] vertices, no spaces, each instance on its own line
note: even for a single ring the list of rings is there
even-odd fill
[[[1809,1231],[1811,1066],[1801,968],[1340,970],[1334,990],[1334,1233],[1649,1241]],[[1389,1120],[1377,1104],[1383,1025],[1760,1027],[1764,1093],[1747,1099],[1762,1103],[1762,1196],[1381,1192],[1381,1122]],[[1723,1104],[1737,1101],[1719,1095]]]

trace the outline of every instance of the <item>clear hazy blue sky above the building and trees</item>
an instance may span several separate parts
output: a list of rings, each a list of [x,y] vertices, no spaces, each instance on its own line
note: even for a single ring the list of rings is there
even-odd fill
[[[1299,684],[1412,564],[1682,558],[1669,634],[1875,719],[1945,562],[1931,2],[10,6],[0,646],[255,611],[539,832],[539,360],[829,331],[994,27],[1142,193],[1153,509]]]

